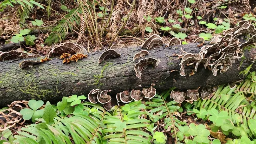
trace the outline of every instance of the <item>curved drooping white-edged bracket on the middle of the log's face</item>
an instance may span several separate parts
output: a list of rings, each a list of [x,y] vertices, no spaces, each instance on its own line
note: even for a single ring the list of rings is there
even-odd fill
[[[144,70],[148,65],[158,66],[158,60],[154,58],[140,59],[138,63],[134,66],[136,72],[136,77],[141,79],[142,70]]]

